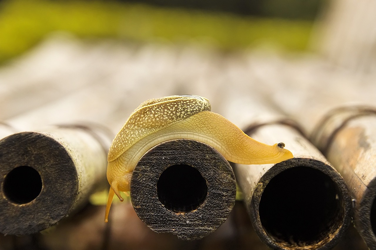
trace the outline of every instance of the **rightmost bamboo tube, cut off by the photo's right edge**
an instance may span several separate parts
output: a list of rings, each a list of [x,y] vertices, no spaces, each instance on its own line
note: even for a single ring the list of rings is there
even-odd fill
[[[318,124],[312,141],[349,185],[354,222],[370,249],[376,249],[376,108],[332,110]]]

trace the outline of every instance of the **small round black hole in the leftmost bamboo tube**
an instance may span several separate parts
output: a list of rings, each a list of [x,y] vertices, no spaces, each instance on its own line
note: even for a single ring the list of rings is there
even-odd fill
[[[11,202],[25,204],[34,200],[42,190],[38,171],[29,166],[12,169],[5,176],[3,193]]]

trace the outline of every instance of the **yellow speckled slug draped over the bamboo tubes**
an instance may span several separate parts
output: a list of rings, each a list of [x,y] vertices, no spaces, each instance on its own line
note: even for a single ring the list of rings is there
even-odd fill
[[[153,146],[173,139],[192,139],[217,149],[239,164],[279,163],[293,157],[284,143],[260,143],[220,114],[211,112],[209,100],[196,95],[150,99],[140,104],[119,131],[108,152],[107,179],[111,185],[105,221],[114,194],[130,190],[132,171]]]

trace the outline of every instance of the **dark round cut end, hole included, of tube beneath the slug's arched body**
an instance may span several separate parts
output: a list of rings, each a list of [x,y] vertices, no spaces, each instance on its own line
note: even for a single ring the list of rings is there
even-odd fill
[[[183,240],[214,232],[235,203],[232,168],[214,148],[195,140],[156,145],[133,170],[130,197],[138,217],[155,232]]]

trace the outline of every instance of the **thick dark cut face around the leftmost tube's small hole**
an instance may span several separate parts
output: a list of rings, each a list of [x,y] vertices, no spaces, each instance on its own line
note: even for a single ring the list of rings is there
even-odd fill
[[[18,143],[13,143],[14,141],[22,141],[23,146],[20,147]],[[77,181],[76,167],[67,150],[54,138],[38,132],[21,132],[5,137],[0,142],[0,148],[3,154],[0,157],[0,183],[3,184],[0,212],[5,220],[9,220],[8,223],[0,223],[0,232],[24,235],[37,233],[56,224],[70,210],[76,199],[76,196],[71,194],[76,194],[79,188],[78,184],[66,185],[68,182]],[[42,155],[41,152],[45,150],[49,151],[49,157]],[[17,157],[12,152],[16,152]],[[4,179],[20,166],[34,169],[42,180],[40,193],[29,202],[14,202],[6,195]],[[46,166],[64,171],[46,173]],[[47,193],[56,195],[46,195]]]

